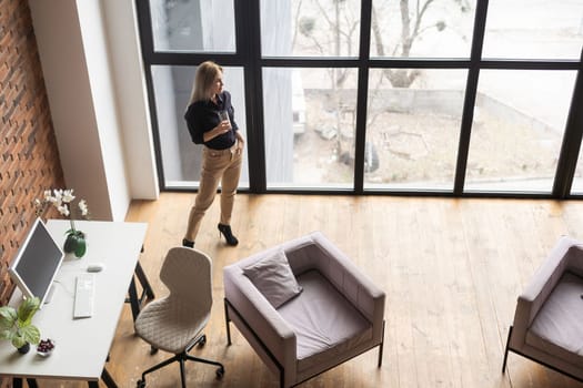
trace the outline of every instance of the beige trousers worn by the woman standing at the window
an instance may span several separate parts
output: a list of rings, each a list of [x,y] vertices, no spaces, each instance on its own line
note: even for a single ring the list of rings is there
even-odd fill
[[[190,210],[189,224],[184,238],[193,242],[200,229],[202,217],[207,210],[212,205],[217,188],[221,183],[221,224],[231,224],[233,213],[234,196],[239,177],[241,176],[242,154],[237,152],[235,146],[228,150],[203,149],[202,170],[200,177],[199,193],[194,200],[194,205]]]

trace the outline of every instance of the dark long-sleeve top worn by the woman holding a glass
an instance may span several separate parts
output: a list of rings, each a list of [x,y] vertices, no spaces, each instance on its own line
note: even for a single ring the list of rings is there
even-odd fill
[[[221,111],[229,112],[231,130],[204,142],[204,132],[211,131],[221,122],[219,118],[219,112]],[[184,120],[187,121],[190,136],[197,144],[204,144],[213,150],[225,150],[233,146],[237,141],[235,131],[239,131],[239,126],[234,121],[234,109],[231,105],[231,94],[228,91],[222,91],[217,95],[217,103],[211,100],[193,102],[187,109]]]

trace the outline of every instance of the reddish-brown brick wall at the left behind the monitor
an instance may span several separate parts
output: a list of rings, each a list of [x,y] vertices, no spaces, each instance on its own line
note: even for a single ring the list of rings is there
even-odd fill
[[[27,0],[0,0],[0,304],[6,304],[14,288],[8,265],[36,218],[33,201],[46,188],[64,186]]]

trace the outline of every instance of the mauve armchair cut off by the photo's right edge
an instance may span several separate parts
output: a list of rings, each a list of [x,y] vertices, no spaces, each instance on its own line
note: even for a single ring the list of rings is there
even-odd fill
[[[583,381],[583,243],[562,237],[519,296],[509,351]]]

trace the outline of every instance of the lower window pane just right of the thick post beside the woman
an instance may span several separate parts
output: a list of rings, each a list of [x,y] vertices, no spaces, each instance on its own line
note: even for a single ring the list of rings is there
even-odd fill
[[[268,187],[352,188],[355,73],[263,69]]]

